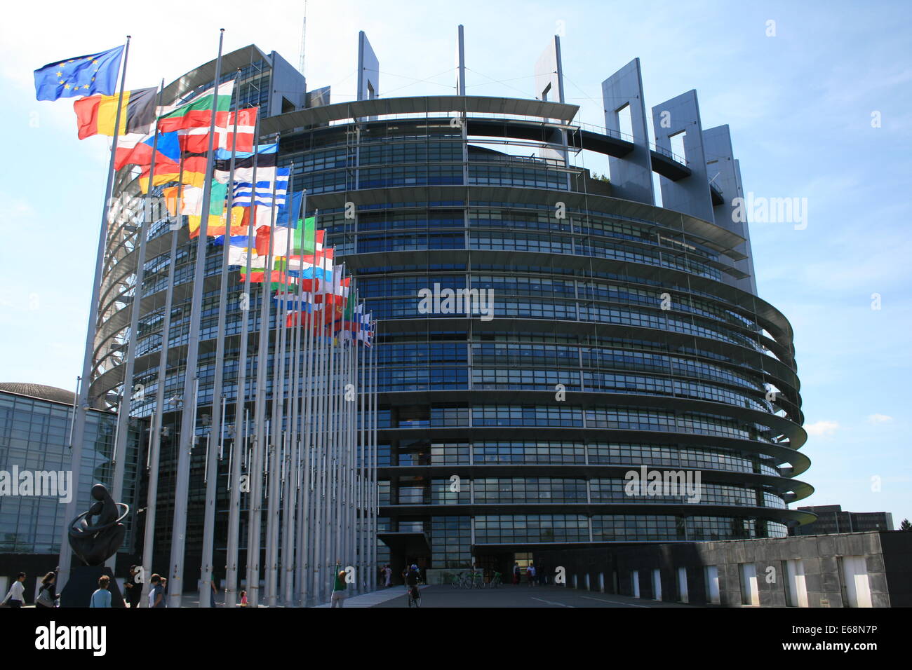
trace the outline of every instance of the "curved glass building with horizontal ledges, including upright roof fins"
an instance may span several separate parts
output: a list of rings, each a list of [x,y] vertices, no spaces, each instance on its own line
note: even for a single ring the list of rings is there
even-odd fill
[[[363,34],[354,102],[328,104],[327,89],[307,92],[255,47],[226,58],[250,68],[242,104],[264,105],[261,139],[278,134],[279,164],[378,319],[380,562],[503,569],[547,546],[782,537],[813,519],[789,509],[812,492],[794,479],[810,463],[792,328],[757,295],[729,132],[701,128],[695,92],[652,109],[650,141],[638,61],[606,79],[606,125],[593,128],[562,101],[556,38],[528,99],[380,98]],[[171,93],[211,83],[207,64]],[[170,237],[160,228],[135,334],[148,398],[138,415],[157,390]],[[166,398],[183,384],[193,258],[182,237]],[[205,367],[218,284],[202,281]],[[105,313],[99,397],[121,383],[122,313]],[[239,324],[232,307],[229,406]],[[201,414],[213,375],[202,374]],[[202,454],[193,462],[191,547]],[[696,494],[631,490],[631,472]]]

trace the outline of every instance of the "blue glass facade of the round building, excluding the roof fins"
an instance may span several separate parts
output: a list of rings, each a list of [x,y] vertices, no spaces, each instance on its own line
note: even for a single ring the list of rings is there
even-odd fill
[[[245,104],[269,88],[268,68],[243,77]],[[308,213],[319,211],[317,225],[378,319],[380,530],[420,533],[428,546],[397,556],[381,543],[379,561],[451,568],[546,543],[784,535],[794,521],[792,466],[804,463],[792,447],[803,440],[803,417],[791,326],[735,287],[734,255],[719,242],[720,229],[594,195],[606,186],[587,188],[588,170],[547,158],[537,151],[544,145],[530,149],[528,119],[509,119],[496,105],[453,125],[429,114],[425,98],[414,100],[414,113],[399,109],[395,118],[289,122],[279,140],[279,165],[292,168],[294,190],[306,190]],[[473,134],[485,124],[496,125],[495,142]],[[560,126],[546,118],[535,124],[542,137]],[[167,230],[155,222],[150,239]],[[163,345],[171,352],[165,397],[179,396],[184,379],[195,243],[179,244],[180,299],[167,343],[169,250],[156,249],[140,288],[149,307],[136,334],[135,383],[145,388],[137,417],[154,408]],[[220,272],[221,258],[222,247],[211,243],[207,278]],[[221,391],[231,427],[243,284],[237,273],[229,277]],[[481,308],[429,310],[420,300],[425,290],[490,295],[492,318]],[[259,292],[251,298],[254,333]],[[201,437],[219,392],[212,387],[217,312],[218,282],[210,279]],[[272,319],[275,325],[275,311]],[[248,361],[249,397],[271,398],[269,381],[254,388],[255,347]],[[275,362],[270,354],[262,363]],[[163,462],[176,459],[178,418],[174,407],[162,417]],[[202,451],[192,454],[191,552],[202,536]],[[700,501],[627,495],[627,470],[643,466],[704,473]],[[220,467],[219,477],[226,475]],[[157,529],[165,546],[169,476],[165,468]],[[217,549],[223,500],[218,508]],[[244,509],[242,545],[245,519]]]

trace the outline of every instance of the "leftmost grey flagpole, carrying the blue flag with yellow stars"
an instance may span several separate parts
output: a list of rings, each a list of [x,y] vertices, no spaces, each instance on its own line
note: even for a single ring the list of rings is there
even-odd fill
[[[111,191],[114,187],[114,156],[117,153],[118,131],[120,129],[120,111],[123,108],[124,84],[127,80],[127,58],[130,56],[130,36],[123,51],[123,66],[120,71],[120,92],[117,113],[114,117],[114,137],[111,140],[111,156],[108,163],[108,178],[105,182],[105,204],[101,211],[101,226],[98,231],[98,251],[95,255],[95,275],[92,279],[92,297],[88,304],[88,327],[86,329],[86,348],[82,359],[82,384],[79,386],[76,412],[73,416],[73,430],[70,436],[70,469],[75,473],[72,499],[67,502],[64,513],[63,530],[60,536],[60,558],[57,566],[57,589],[63,591],[69,580],[69,570],[73,553],[69,547],[69,520],[77,515],[77,509],[85,505],[86,500],[80,495],[86,491],[79,490],[79,473],[82,472],[82,442],[86,432],[86,412],[91,407],[90,387],[92,386],[92,367],[95,359],[95,336],[98,333],[98,300],[101,295],[101,278],[104,273],[105,247],[108,243],[108,220],[112,209]]]

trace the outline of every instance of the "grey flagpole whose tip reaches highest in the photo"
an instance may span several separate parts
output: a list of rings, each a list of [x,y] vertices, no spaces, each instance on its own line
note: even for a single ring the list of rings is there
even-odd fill
[[[218,110],[219,79],[222,78],[222,44],[224,28],[219,31],[219,54],[215,61],[215,79],[212,88],[212,119],[209,123],[209,148],[206,153],[206,170],[202,190],[202,215],[196,242],[196,263],[193,272],[193,294],[190,315],[190,332],[187,336],[187,365],[184,370],[183,410],[181,412],[181,440],[178,446],[178,464],[174,486],[174,522],[171,531],[171,583],[168,588],[169,607],[181,606],[183,593],[183,561],[187,531],[187,497],[190,488],[190,464],[193,438],[196,434],[196,392],[199,386],[200,316],[202,313],[202,284],[206,272],[207,227],[209,201],[212,196],[212,141],[215,138],[215,116]]]

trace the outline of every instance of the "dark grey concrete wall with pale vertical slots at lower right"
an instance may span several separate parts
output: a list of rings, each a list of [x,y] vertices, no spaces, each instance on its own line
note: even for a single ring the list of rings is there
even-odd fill
[[[718,542],[665,542],[612,545],[591,549],[534,551],[539,569],[554,574],[565,568],[585,588],[586,574],[593,590],[603,575],[606,593],[634,595],[637,571],[639,596],[655,598],[653,575],[658,569],[661,600],[680,601],[679,569],[687,570],[688,602],[741,607],[748,599],[742,585],[742,565],[753,565],[761,607],[788,606],[786,562],[803,562],[808,607],[848,607],[843,557],[864,557],[874,607],[912,606],[912,532],[871,531],[779,539]],[[707,568],[719,576],[719,601],[710,603]],[[617,583],[617,588],[615,584]]]

